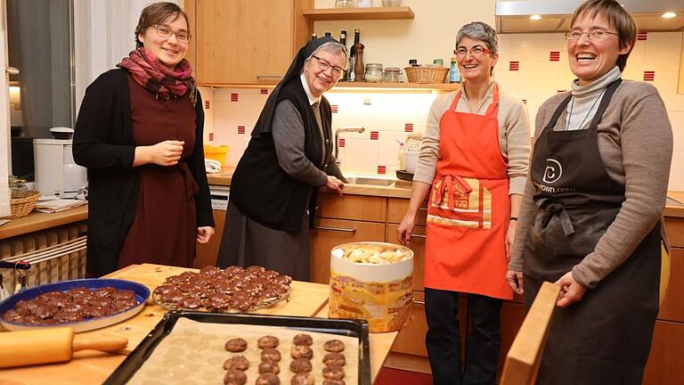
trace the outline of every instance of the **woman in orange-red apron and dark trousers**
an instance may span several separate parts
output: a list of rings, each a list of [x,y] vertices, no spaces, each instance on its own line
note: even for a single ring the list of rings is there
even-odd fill
[[[427,197],[426,345],[435,384],[495,382],[501,299],[513,296],[505,274],[527,171],[529,123],[523,102],[492,80],[497,47],[485,23],[460,29],[455,53],[463,89],[433,103],[411,203],[398,229],[399,241],[408,244]],[[468,293],[471,320],[465,365],[459,293]]]

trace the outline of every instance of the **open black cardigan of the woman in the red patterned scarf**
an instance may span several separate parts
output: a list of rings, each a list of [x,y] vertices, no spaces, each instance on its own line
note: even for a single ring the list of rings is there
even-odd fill
[[[186,161],[199,184],[197,226],[213,226],[204,168],[204,111],[197,93],[195,148]],[[117,269],[118,252],[133,224],[138,170],[126,70],[109,70],[85,90],[74,132],[74,160],[88,168],[88,241],[85,270],[102,275]],[[159,224],[163,225],[163,224]]]

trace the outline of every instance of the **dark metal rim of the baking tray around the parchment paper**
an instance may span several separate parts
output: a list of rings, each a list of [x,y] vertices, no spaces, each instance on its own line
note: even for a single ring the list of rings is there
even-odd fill
[[[204,313],[190,311],[168,312],[159,324],[142,340],[140,345],[126,357],[117,370],[111,373],[105,385],[125,384],[144,364],[161,340],[174,329],[180,319],[209,324],[248,324],[262,326],[279,326],[297,329],[304,332],[323,332],[338,334],[359,339],[359,385],[371,385],[371,350],[368,341],[368,323],[365,320],[328,319],[312,317],[296,317],[284,315],[236,315],[222,313]]]

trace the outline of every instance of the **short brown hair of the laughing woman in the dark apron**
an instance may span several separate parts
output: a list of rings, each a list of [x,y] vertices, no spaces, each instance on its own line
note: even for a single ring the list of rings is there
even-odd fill
[[[627,58],[637,41],[637,23],[632,19],[631,14],[625,11],[623,6],[615,0],[589,0],[574,10],[573,18],[570,19],[570,28],[573,28],[574,21],[581,14],[586,14],[592,19],[599,14],[606,16],[610,26],[615,28],[620,35],[618,37],[620,48],[630,46],[627,53],[617,57],[617,67],[621,71],[624,70],[627,65]]]

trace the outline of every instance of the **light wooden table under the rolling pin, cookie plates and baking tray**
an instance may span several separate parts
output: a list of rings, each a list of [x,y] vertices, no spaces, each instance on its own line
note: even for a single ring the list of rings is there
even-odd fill
[[[142,283],[153,291],[169,275],[197,271],[174,266],[133,265],[107,275],[108,278],[120,278]],[[300,315],[328,316],[328,286],[320,283],[292,283],[292,293],[288,302],[281,302],[274,307],[256,310],[256,314],[265,315]],[[51,365],[34,365],[20,368],[0,370],[0,385],[27,384],[99,384],[114,372],[119,364],[142,341],[152,328],[159,323],[166,310],[151,301],[134,317],[100,330],[85,332],[84,335],[115,334],[128,338],[126,349],[119,354],[107,354],[96,351],[81,351],[74,355],[68,363]],[[375,381],[380,367],[385,362],[389,348],[396,338],[396,332],[371,334],[371,379]]]

